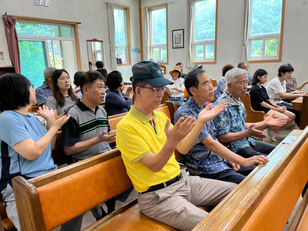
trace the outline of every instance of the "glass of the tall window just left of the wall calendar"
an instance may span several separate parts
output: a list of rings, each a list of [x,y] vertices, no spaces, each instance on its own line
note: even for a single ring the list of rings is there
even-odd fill
[[[115,7],[113,10],[115,19],[115,48],[116,56],[122,59],[122,63],[128,63],[128,39],[126,11],[129,9]]]

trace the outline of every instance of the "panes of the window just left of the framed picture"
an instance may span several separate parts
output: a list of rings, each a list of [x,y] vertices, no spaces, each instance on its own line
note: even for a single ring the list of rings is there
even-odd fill
[[[167,9],[150,10],[151,59],[166,63],[167,57]]]

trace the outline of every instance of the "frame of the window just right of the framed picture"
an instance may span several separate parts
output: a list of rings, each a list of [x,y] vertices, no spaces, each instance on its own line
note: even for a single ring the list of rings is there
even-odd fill
[[[191,47],[193,48],[191,52],[191,60],[192,64],[216,64],[217,63],[217,18],[218,18],[218,0],[216,0],[216,13],[215,13],[215,39],[208,39],[208,40],[200,40],[195,41],[195,3],[201,2],[204,0],[194,0],[193,1],[193,25],[192,25],[192,44]],[[203,51],[206,50],[206,45],[214,44],[214,59],[206,59],[205,55],[203,59],[195,59],[196,56],[196,47],[203,44]]]

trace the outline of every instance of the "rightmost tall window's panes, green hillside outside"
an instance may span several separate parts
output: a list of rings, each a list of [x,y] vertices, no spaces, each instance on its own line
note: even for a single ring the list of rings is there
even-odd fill
[[[250,1],[249,59],[278,59],[283,0]]]

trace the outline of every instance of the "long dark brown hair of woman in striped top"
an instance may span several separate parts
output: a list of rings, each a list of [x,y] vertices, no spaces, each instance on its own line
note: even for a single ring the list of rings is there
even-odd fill
[[[64,106],[65,103],[65,99],[64,96],[61,94],[59,87],[57,85],[58,83],[58,79],[60,78],[60,76],[62,75],[62,73],[65,72],[68,77],[70,77],[70,75],[68,74],[68,72],[64,69],[57,69],[54,71],[54,73],[52,73],[51,76],[51,81],[52,81],[52,85],[51,85],[51,91],[52,91],[52,95],[55,97],[55,99],[57,100],[57,103],[59,104],[60,107]],[[68,95],[71,97],[71,99],[76,102],[77,101],[77,96],[75,95],[72,85],[70,86],[69,89],[67,89]]]

